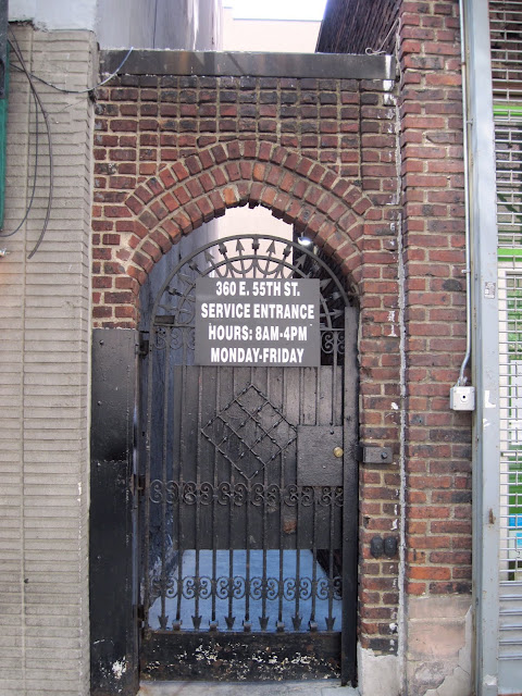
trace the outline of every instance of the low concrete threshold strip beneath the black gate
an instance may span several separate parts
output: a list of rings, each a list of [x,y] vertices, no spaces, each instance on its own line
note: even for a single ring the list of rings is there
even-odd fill
[[[141,682],[138,696],[360,696],[337,680],[309,682]]]

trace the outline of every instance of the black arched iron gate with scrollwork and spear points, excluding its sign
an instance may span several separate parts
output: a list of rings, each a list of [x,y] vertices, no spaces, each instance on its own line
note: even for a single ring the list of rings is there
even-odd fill
[[[321,364],[200,366],[198,277],[319,278]],[[142,676],[355,680],[357,310],[301,245],[185,258],[142,365]]]

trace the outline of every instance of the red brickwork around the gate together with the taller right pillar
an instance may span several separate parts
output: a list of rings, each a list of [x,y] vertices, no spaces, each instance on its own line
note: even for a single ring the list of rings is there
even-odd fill
[[[96,325],[135,326],[153,264],[237,206],[307,229],[351,282],[361,439],[394,448],[360,475],[360,644],[376,652],[400,647],[402,589],[470,592],[470,420],[449,410],[465,330],[457,8],[402,3],[398,111],[377,82],[150,75],[114,79],[96,108]],[[402,524],[402,567],[374,558]]]

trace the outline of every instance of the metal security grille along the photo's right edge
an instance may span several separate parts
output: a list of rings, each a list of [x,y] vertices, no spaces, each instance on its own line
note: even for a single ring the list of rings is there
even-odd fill
[[[489,0],[499,256],[499,687],[522,669],[522,1]]]

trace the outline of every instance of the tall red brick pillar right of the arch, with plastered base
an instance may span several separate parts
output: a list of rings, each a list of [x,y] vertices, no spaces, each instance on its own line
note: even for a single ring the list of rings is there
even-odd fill
[[[471,594],[471,418],[448,408],[449,388],[465,352],[458,10],[456,0],[403,2],[400,21],[407,657],[413,691],[426,681],[433,686],[443,676],[451,679]],[[425,636],[426,601],[433,617],[431,641]],[[426,661],[444,650],[444,641],[451,644],[448,621],[460,631],[458,646],[447,650],[443,673],[426,678]]]

